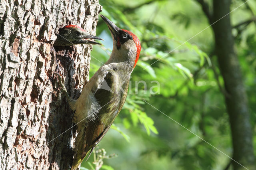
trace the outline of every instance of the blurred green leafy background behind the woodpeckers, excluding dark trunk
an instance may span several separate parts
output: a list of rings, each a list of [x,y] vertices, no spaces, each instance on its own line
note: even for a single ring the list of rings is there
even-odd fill
[[[206,10],[202,8],[204,2],[208,3]],[[230,11],[244,2],[232,0]],[[234,148],[225,80],[215,52],[214,30],[207,28],[212,24],[207,10],[212,12],[213,3],[213,0],[100,0],[101,14],[118,27],[133,32],[140,39],[142,50],[122,111],[95,149],[97,153],[84,161],[81,169],[236,169],[228,158]],[[256,1],[250,0],[228,16],[242,73],[238,81],[244,83],[252,129],[242,130],[248,130],[249,138],[254,139],[252,154],[256,153],[255,15]],[[96,35],[105,41],[102,46],[93,47],[90,77],[108,60],[112,50],[110,32],[101,18]]]

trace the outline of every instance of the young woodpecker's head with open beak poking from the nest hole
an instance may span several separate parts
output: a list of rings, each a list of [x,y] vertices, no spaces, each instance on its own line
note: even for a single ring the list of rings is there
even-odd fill
[[[88,40],[88,38],[103,40],[99,37],[88,34],[80,26],[68,25],[59,30],[59,34],[57,35],[54,45],[70,46],[76,44],[100,44],[98,42]]]

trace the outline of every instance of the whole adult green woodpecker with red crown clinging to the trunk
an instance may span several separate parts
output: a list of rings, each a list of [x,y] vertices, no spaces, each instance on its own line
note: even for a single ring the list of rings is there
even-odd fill
[[[118,28],[105,16],[100,16],[106,22],[113,39],[108,61],[96,71],[76,101],[68,97],[59,76],[62,90],[70,107],[75,110],[73,118],[77,124],[72,170],[78,168],[89,151],[92,153],[122,109],[130,75],[140,55],[140,40],[134,34]]]

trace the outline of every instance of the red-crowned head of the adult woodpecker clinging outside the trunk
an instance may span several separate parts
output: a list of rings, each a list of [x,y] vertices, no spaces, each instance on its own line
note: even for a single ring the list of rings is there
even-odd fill
[[[130,31],[118,28],[105,16],[100,16],[106,22],[113,39],[110,59],[113,62],[127,61],[128,65],[134,68],[140,57],[140,40]]]

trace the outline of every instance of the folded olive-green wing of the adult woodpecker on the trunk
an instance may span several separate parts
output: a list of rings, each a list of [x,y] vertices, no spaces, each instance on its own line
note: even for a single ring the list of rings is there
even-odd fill
[[[73,161],[73,167],[79,166],[88,152],[90,150],[92,152],[122,109],[126,99],[129,81],[120,85],[118,84],[120,83],[118,80],[118,74],[113,69],[109,69],[104,77],[101,88],[97,89],[94,93],[95,98],[100,104],[100,111],[97,113],[98,117],[95,120],[86,123],[85,130],[78,132],[78,136],[82,136],[78,138],[80,140],[76,141],[75,144],[77,151]]]

